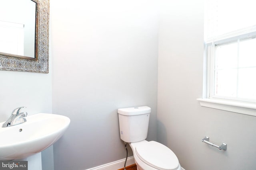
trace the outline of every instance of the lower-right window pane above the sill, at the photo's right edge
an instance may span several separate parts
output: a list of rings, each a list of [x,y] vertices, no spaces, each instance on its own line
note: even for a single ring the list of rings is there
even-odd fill
[[[240,68],[238,98],[256,99],[256,68]]]

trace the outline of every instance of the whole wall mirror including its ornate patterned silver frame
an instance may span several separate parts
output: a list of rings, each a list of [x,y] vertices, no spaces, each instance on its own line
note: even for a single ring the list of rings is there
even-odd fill
[[[48,73],[49,0],[0,0],[0,70]]]

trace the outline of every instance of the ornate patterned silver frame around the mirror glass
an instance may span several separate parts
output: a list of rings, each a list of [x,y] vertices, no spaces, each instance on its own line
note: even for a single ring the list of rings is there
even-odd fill
[[[49,0],[33,0],[37,3],[36,59],[0,54],[0,70],[48,73],[49,65]]]

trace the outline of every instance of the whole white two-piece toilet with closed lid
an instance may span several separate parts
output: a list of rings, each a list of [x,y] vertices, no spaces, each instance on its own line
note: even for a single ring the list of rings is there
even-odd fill
[[[132,148],[137,170],[182,170],[177,156],[165,145],[146,141],[151,108],[118,109],[120,138]]]

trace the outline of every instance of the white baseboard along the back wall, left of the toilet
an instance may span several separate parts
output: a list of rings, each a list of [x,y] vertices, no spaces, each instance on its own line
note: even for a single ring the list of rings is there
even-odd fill
[[[108,164],[100,165],[94,168],[86,169],[86,170],[118,170],[118,169],[124,168],[124,162],[125,162],[125,158],[114,161],[114,162],[110,162]],[[127,158],[126,166],[129,166],[132,164],[135,164],[134,157],[130,156]]]

